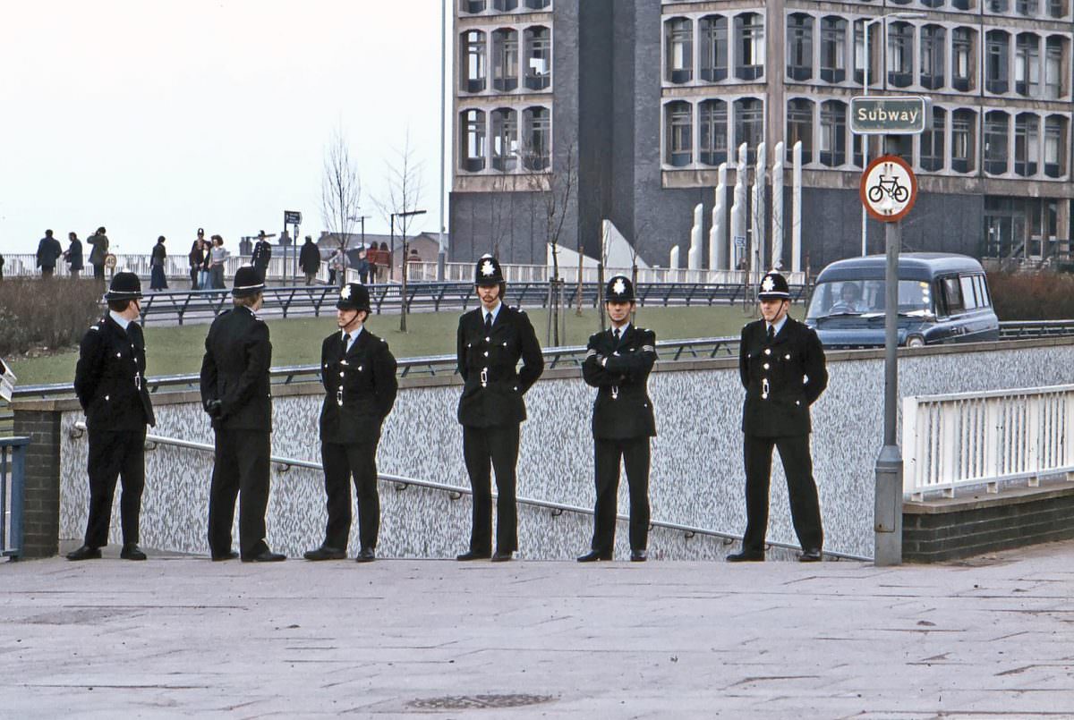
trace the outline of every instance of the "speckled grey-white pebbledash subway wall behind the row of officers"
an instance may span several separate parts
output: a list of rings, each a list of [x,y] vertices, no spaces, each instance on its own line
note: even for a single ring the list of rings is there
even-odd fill
[[[871,556],[873,548],[873,464],[882,438],[881,352],[831,353],[828,391],[813,407],[814,474],[821,493],[825,547]],[[1074,341],[978,344],[905,351],[900,358],[900,393],[927,395],[1070,381]],[[321,401],[314,385],[277,388],[273,455],[319,461],[317,417]],[[404,380],[386,423],[379,469],[408,477],[467,486],[462,434],[455,421],[460,387],[452,379]],[[743,391],[735,358],[657,365],[650,379],[656,408],[650,481],[653,519],[741,533],[744,524],[742,434]],[[577,370],[551,370],[527,394],[519,495],[580,506],[593,503],[590,414],[595,391]],[[155,398],[155,434],[212,442],[212,430],[193,393]],[[45,418],[60,414],[57,425]],[[27,402],[16,414],[58,430],[61,539],[85,530],[88,487],[86,439],[74,437],[83,420],[71,401]],[[47,444],[44,436],[40,438]],[[769,540],[795,543],[780,462],[774,461]],[[44,471],[45,468],[42,468]],[[206,553],[206,510],[212,473],[208,453],[160,445],[146,454],[142,543],[151,548]],[[290,556],[317,546],[324,529],[319,471],[274,466],[268,542]],[[438,490],[381,486],[381,557],[451,557],[466,547],[470,502]],[[620,510],[625,512],[625,482]],[[43,510],[45,510],[43,508]],[[111,542],[119,542],[118,493]],[[592,519],[579,513],[520,510],[520,557],[569,559],[587,548]],[[352,530],[357,535],[357,523]],[[236,535],[237,541],[237,535]],[[351,547],[357,538],[352,537]],[[616,554],[627,553],[625,528]],[[44,545],[43,545],[44,547]],[[656,559],[715,559],[735,545],[719,538],[654,530]],[[779,553],[773,557],[780,557]]]

